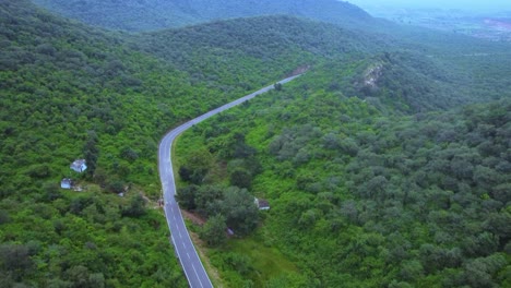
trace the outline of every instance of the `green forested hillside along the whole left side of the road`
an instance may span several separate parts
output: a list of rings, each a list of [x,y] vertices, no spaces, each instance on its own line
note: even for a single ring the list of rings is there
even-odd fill
[[[60,19],[27,0],[1,1],[0,26],[0,279],[7,287],[186,286],[165,220],[141,196],[159,196],[161,135],[321,58],[283,40],[252,47],[286,62],[218,47],[236,53],[229,69],[193,77],[223,56],[206,49],[165,59],[164,50],[134,47],[123,35]],[[195,41],[192,32],[175,43]],[[300,43],[328,49],[321,34],[304,35],[311,38]],[[193,69],[178,70],[187,64]],[[78,158],[87,160],[81,175],[69,168]],[[64,177],[84,191],[60,189]]]

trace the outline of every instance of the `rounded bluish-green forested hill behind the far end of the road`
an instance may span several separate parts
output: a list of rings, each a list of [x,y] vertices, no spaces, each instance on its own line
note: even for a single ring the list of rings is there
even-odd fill
[[[187,71],[192,81],[236,75],[236,81],[228,83],[233,86],[247,86],[245,79],[253,65],[263,74],[277,76],[275,69],[285,69],[288,74],[321,61],[360,61],[391,47],[384,38],[283,15],[144,33],[130,37],[130,44]]]

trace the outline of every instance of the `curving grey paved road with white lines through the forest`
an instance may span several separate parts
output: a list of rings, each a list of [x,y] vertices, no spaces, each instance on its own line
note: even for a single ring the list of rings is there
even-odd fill
[[[277,83],[285,84],[299,75],[284,79]],[[197,123],[200,123],[207,118],[217,115],[222,111],[225,111],[229,108],[233,108],[243,101],[247,101],[260,94],[263,94],[272,89],[274,85],[266,86],[260,91],[257,91],[252,94],[249,94],[245,97],[241,97],[237,100],[234,100],[229,104],[226,104],[222,107],[213,109],[195,119],[192,119],[176,129],[168,132],[159,143],[158,149],[158,170],[159,179],[162,181],[163,197],[164,197],[164,211],[165,217],[167,218],[168,228],[170,229],[171,243],[176,250],[179,262],[181,263],[182,269],[187,276],[188,283],[192,288],[206,288],[213,287],[211,284],[210,277],[202,265],[197,250],[193,247],[193,243],[188,233],[187,227],[185,226],[185,220],[182,219],[181,211],[176,202],[176,182],[174,179],[174,170],[171,163],[171,147],[173,143],[179,134],[193,127]]]

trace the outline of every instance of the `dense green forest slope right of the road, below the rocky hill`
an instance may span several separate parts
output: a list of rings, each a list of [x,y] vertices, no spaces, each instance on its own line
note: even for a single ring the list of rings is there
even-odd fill
[[[269,277],[269,255],[229,240],[210,251],[227,286],[509,286],[509,98],[389,116],[326,86],[332,72],[309,71],[178,144],[181,167],[205,175],[194,189],[237,185],[270,201],[254,238],[300,271]],[[198,152],[214,161],[187,166]]]

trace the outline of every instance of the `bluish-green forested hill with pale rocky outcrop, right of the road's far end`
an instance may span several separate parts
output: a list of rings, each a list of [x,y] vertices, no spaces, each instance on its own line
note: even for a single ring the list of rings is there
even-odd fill
[[[492,47],[494,53],[506,47]],[[477,49],[475,49],[477,50]],[[506,57],[477,57],[470,51],[385,51],[360,65],[353,77],[335,80],[331,88],[357,95],[381,110],[405,113],[444,110],[474,101],[509,97]],[[503,61],[503,62],[502,62]],[[490,62],[490,63],[489,63]]]

